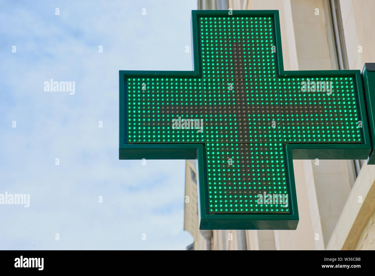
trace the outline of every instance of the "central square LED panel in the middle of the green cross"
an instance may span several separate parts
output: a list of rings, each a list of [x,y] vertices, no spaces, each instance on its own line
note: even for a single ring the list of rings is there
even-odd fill
[[[282,142],[276,79],[204,79],[205,142]]]

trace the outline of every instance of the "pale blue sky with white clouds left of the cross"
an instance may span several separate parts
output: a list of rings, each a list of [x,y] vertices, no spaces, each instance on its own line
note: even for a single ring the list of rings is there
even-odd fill
[[[118,70],[191,70],[196,0],[0,6],[0,193],[30,194],[0,205],[0,249],[185,249],[185,161],[118,160]]]

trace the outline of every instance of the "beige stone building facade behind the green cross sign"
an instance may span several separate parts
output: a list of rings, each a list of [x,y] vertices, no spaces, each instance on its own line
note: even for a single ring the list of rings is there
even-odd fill
[[[361,70],[375,62],[373,0],[198,0],[198,9],[279,10],[285,70]],[[375,249],[375,165],[294,160],[297,230],[199,230],[196,161],[186,160],[189,250]],[[188,200],[187,200],[188,199]]]

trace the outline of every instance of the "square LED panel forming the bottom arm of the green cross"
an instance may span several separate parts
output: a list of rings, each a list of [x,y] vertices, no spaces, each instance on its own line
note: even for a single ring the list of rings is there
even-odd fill
[[[282,143],[207,143],[207,175],[211,213],[289,213]]]

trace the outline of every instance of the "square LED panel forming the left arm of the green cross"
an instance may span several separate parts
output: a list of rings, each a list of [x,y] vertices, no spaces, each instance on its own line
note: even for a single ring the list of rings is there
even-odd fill
[[[128,143],[203,142],[199,79],[128,78],[127,91]]]

